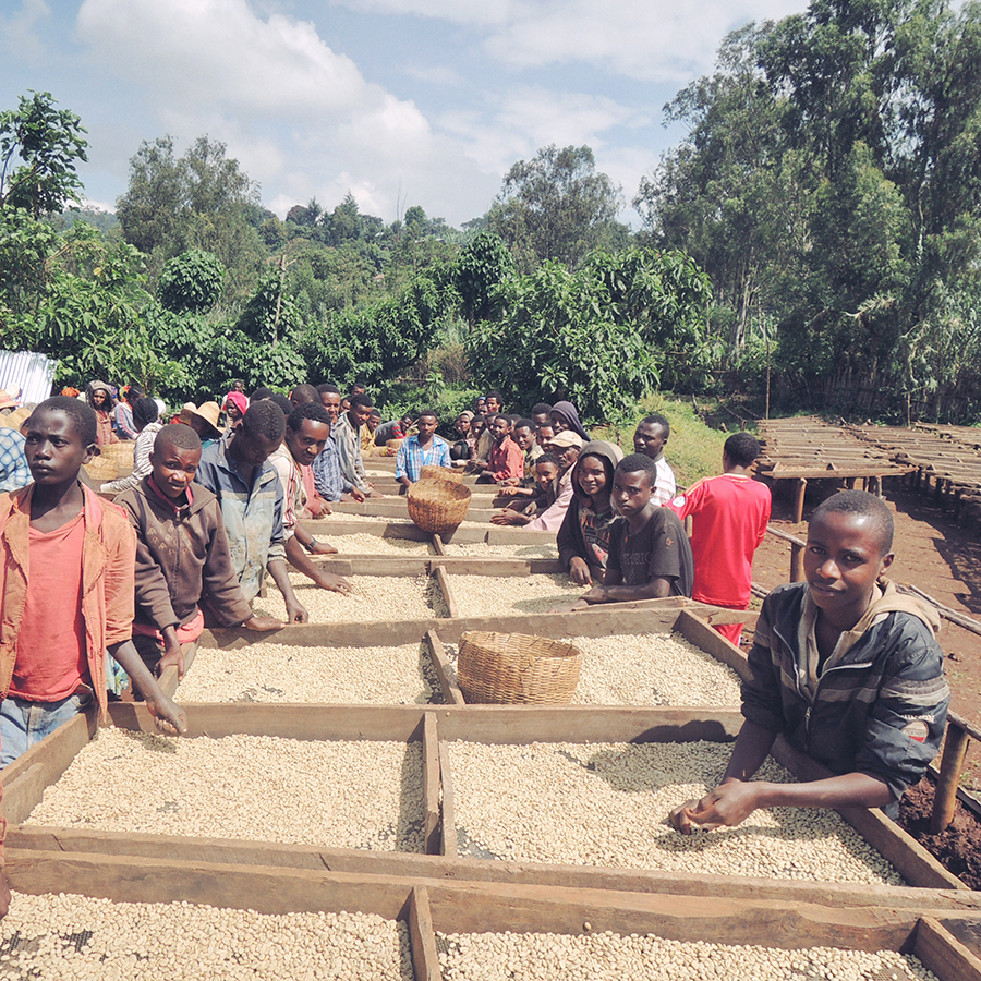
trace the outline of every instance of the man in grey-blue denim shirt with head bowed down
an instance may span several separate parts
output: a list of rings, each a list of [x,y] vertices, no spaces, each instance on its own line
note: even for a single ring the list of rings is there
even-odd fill
[[[197,482],[221,507],[232,566],[251,603],[268,570],[286,603],[287,619],[305,623],[310,614],[293,593],[286,566],[282,531],[282,487],[266,462],[282,441],[286,416],[269,401],[255,401],[229,441],[202,450]]]

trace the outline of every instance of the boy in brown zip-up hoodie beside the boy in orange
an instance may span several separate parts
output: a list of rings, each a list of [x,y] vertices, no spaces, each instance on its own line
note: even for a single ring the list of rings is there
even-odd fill
[[[256,617],[242,593],[218,500],[194,483],[201,452],[201,439],[191,426],[165,426],[154,440],[149,476],[116,498],[136,532],[133,643],[150,670],[159,674],[175,665],[180,678],[181,644],[196,641],[205,628],[198,606],[203,593],[222,627],[284,626]]]

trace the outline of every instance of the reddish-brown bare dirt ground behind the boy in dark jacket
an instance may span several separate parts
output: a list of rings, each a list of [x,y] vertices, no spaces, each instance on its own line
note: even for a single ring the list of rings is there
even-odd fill
[[[840,488],[831,481],[810,485],[804,521],[795,524],[790,520],[792,482],[778,483],[774,492],[772,523],[804,537],[808,516],[836,489]],[[936,507],[932,496],[907,491],[899,479],[885,480],[883,495],[896,522],[896,559],[889,578],[897,583],[915,585],[944,606],[981,621],[981,537],[978,533],[953,521]],[[789,577],[790,545],[767,535],[753,561],[753,582],[772,589],[787,582]],[[945,620],[937,641],[947,656],[953,710],[981,725],[981,637]],[[977,743],[971,743],[968,749],[964,783],[972,789],[981,788],[981,746]]]

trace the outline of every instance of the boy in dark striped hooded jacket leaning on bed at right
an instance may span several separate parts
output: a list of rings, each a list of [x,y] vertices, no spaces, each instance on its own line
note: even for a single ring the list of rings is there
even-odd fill
[[[763,602],[742,686],[746,722],[722,784],[671,811],[689,834],[743,822],[756,808],[883,808],[923,775],[944,734],[950,693],[933,638],[936,614],[882,574],[893,562],[893,516],[873,494],[844,491],[808,526],[806,582]],[[752,780],[774,739],[835,776]]]

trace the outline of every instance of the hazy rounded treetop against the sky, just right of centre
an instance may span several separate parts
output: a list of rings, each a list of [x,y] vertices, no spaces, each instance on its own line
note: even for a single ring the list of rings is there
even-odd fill
[[[576,267],[615,223],[620,189],[595,167],[590,147],[552,144],[505,174],[487,220],[522,271],[545,259]]]

